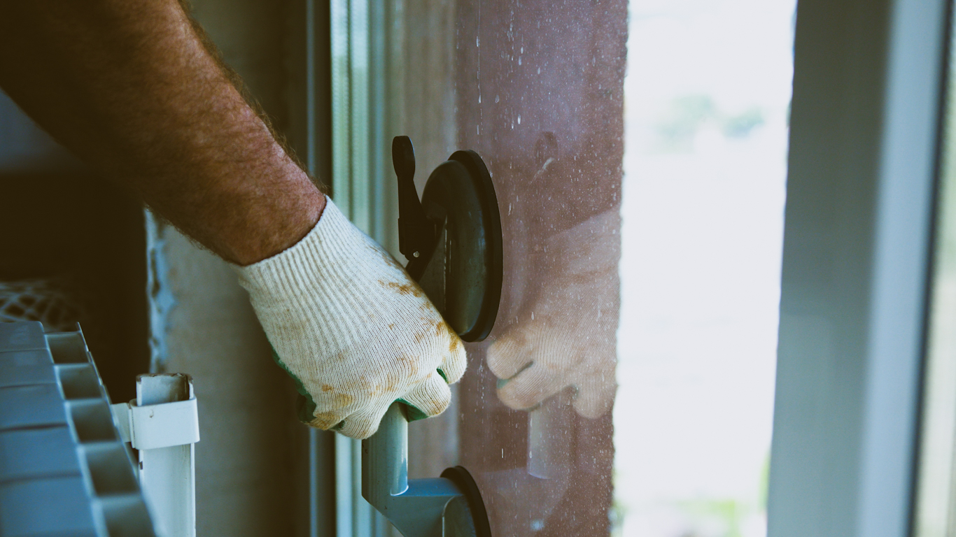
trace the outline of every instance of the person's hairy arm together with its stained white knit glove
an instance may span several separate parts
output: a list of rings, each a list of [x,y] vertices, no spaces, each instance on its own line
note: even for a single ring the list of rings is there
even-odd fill
[[[451,400],[465,347],[236,89],[177,0],[0,0],[0,86],[77,156],[234,267],[299,418],[367,438]],[[321,219],[319,219],[321,217]]]

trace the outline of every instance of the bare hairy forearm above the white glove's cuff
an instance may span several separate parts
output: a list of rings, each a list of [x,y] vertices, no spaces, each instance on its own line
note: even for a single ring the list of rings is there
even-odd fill
[[[227,261],[298,242],[325,197],[177,0],[0,0],[0,87]]]

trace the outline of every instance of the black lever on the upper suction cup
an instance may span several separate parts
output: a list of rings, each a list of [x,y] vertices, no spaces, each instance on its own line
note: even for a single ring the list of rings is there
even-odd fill
[[[437,231],[428,220],[415,190],[415,149],[412,140],[392,140],[392,164],[399,178],[399,251],[409,261],[426,260],[435,248]]]

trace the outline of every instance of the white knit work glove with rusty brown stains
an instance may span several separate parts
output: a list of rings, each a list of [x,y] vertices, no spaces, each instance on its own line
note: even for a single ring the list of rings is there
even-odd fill
[[[393,401],[420,418],[448,406],[448,383],[465,373],[461,339],[332,200],[298,244],[235,270],[276,362],[305,397],[299,419],[364,439]]]

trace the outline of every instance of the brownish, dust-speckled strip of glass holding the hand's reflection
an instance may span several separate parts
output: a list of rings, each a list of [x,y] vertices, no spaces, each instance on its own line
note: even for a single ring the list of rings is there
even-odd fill
[[[506,245],[459,449],[497,534],[611,530],[626,20],[623,0],[458,6],[480,47],[455,58],[457,139],[489,157]]]

